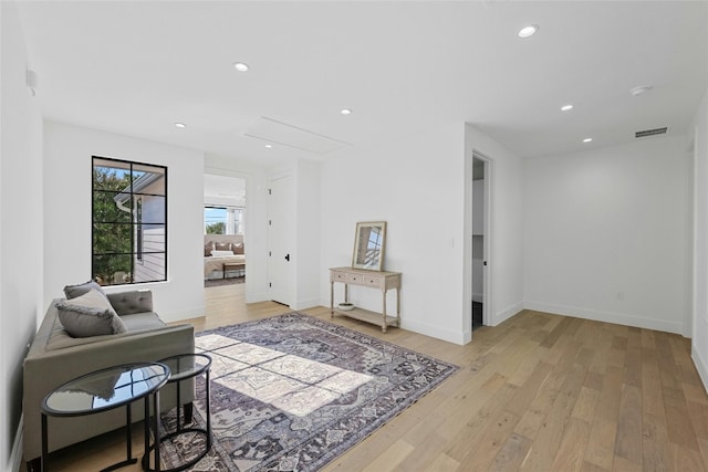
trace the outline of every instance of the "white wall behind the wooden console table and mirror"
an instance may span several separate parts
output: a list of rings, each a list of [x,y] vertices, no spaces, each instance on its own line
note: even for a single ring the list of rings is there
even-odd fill
[[[440,125],[342,150],[322,164],[323,306],[330,306],[329,268],[352,264],[356,222],[387,221],[384,270],[403,274],[402,326],[464,343],[464,133],[461,123]],[[336,291],[341,302],[341,286]],[[351,286],[350,295],[354,304],[381,311],[381,292]],[[386,303],[395,310],[395,291]]]

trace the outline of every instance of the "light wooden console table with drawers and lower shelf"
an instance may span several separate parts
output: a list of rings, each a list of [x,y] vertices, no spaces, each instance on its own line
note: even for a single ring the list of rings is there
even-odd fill
[[[350,285],[367,286],[369,289],[378,289],[382,293],[382,311],[372,312],[363,308],[336,310],[334,307],[334,283],[344,284],[344,302],[350,301]],[[389,289],[396,289],[396,316],[386,314],[386,292]],[[400,272],[385,271],[366,271],[353,268],[332,268],[330,269],[330,313],[340,314],[356,318],[363,322],[381,325],[381,331],[386,333],[388,326],[400,326]]]

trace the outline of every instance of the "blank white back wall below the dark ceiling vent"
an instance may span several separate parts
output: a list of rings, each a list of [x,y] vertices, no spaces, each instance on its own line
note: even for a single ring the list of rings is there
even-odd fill
[[[689,331],[685,137],[524,160],[525,307]]]

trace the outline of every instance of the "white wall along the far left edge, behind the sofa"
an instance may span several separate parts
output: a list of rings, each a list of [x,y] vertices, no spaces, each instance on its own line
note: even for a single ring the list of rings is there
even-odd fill
[[[22,460],[22,359],[44,313],[42,119],[14,2],[0,2],[0,470],[10,471]]]

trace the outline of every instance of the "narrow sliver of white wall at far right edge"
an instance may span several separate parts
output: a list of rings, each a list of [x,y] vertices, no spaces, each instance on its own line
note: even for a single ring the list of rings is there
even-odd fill
[[[696,114],[694,134],[693,358],[708,389],[708,91]]]

